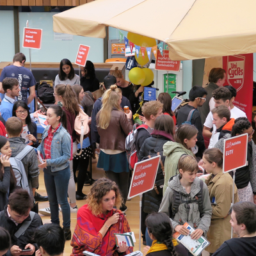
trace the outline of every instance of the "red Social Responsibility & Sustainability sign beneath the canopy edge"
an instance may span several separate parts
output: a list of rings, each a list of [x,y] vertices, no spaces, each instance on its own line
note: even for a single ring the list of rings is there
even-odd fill
[[[180,71],[180,61],[173,61],[169,58],[169,51],[163,50],[163,56],[157,50],[156,67],[157,70]]]

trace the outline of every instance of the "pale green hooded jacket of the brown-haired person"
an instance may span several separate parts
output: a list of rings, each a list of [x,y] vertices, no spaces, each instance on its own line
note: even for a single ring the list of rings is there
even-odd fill
[[[164,144],[163,147],[164,153],[163,155],[166,156],[164,162],[164,188],[163,193],[166,191],[168,187],[168,182],[171,177],[178,174],[178,162],[182,155],[191,155],[193,156],[193,152],[188,150],[187,148],[183,147],[180,143],[168,141]]]

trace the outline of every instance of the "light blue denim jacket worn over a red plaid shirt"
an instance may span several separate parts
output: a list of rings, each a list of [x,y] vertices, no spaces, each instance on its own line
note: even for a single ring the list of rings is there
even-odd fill
[[[37,148],[42,152],[45,159],[44,140],[48,136],[48,130],[51,126],[47,126],[42,134],[42,142]],[[47,166],[51,166],[52,172],[64,170],[69,165],[71,156],[71,138],[67,130],[60,125],[58,130],[54,132],[51,144],[51,159],[47,159]]]

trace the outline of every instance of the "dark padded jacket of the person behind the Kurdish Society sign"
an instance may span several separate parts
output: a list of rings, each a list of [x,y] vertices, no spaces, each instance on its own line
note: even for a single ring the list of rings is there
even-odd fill
[[[147,138],[144,141],[138,155],[138,161],[145,160],[148,156],[157,156],[157,152],[159,152],[161,155],[161,161],[164,165],[165,156],[163,156],[163,145],[167,141],[173,141],[173,138],[170,134],[166,134],[166,132],[156,130],[154,130],[151,135],[152,137]],[[161,184],[161,180],[164,184],[164,175],[161,167],[161,164],[159,164],[156,176],[157,184]],[[148,191],[144,194],[144,212],[147,212],[148,214],[152,212],[158,212],[163,198],[163,186],[161,191],[162,193],[157,194],[155,189],[152,189],[151,191]]]

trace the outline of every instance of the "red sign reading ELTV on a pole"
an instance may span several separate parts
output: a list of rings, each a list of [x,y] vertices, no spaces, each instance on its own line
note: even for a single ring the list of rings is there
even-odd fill
[[[224,141],[223,173],[247,165],[247,144],[247,133]]]

